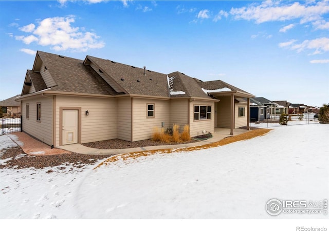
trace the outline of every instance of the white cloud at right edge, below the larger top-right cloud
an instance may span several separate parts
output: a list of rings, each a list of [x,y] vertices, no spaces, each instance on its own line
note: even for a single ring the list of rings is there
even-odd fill
[[[291,50],[296,50],[297,52],[308,50],[315,50],[312,54],[319,54],[322,52],[329,51],[329,38],[320,37],[314,40],[305,40],[302,43],[296,44],[296,40],[290,40],[286,43],[280,43],[279,47],[290,47]]]

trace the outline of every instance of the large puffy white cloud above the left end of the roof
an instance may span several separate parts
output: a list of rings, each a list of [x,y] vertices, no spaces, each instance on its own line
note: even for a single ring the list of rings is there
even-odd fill
[[[25,44],[36,42],[41,46],[50,46],[56,51],[84,52],[88,49],[104,47],[104,43],[98,41],[99,36],[96,33],[83,32],[79,27],[72,27],[71,24],[74,22],[73,16],[45,18],[36,28],[33,28],[31,24],[21,27],[22,31],[29,31],[32,34],[15,36],[15,38]]]

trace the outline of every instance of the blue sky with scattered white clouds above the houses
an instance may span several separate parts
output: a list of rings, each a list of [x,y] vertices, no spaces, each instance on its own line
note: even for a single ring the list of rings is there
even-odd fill
[[[0,0],[0,100],[21,94],[37,50],[329,103],[329,1]]]

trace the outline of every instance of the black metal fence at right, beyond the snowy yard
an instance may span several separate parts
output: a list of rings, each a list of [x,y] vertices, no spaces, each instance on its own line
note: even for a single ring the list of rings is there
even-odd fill
[[[258,122],[250,122],[251,127],[277,127],[303,124],[319,124],[316,113],[288,114],[285,117],[286,124],[280,124],[281,115],[272,115],[271,119]]]

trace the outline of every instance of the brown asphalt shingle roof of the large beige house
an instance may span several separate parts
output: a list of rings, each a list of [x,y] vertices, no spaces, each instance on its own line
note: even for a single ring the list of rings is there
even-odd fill
[[[167,75],[89,55],[82,61],[42,51],[37,52],[33,70],[27,72],[36,91],[47,89],[38,69],[40,60],[55,83],[48,91],[205,99],[212,97],[201,88],[212,90],[227,87],[232,91],[248,93],[220,80],[202,82],[178,71]],[[171,87],[168,84],[169,79]]]

